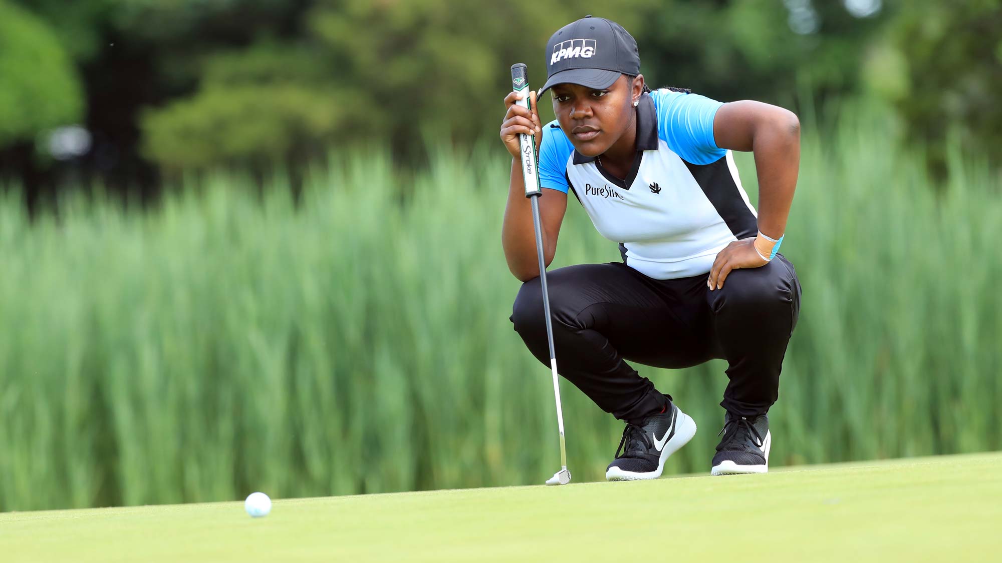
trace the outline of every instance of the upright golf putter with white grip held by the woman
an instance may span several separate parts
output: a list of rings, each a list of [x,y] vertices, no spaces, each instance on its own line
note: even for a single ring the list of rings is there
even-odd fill
[[[525,63],[511,65],[511,86],[516,92],[522,92],[522,99],[516,103],[531,110],[529,101],[529,78]],[[518,136],[519,147],[522,150],[522,177],[525,179],[525,196],[532,203],[532,226],[536,231],[536,255],[539,257],[539,280],[543,287],[543,313],[546,315],[546,340],[550,345],[550,369],[553,372],[553,396],[557,402],[557,428],[560,430],[560,471],[546,480],[547,485],[566,485],[570,483],[570,472],[567,471],[567,448],[564,445],[563,411],[560,409],[560,385],[557,378],[557,356],[553,350],[553,325],[550,321],[550,296],[546,290],[546,260],[543,257],[543,228],[539,223],[539,196],[543,194],[539,188],[539,174],[536,169],[536,142],[534,135],[522,133]]]

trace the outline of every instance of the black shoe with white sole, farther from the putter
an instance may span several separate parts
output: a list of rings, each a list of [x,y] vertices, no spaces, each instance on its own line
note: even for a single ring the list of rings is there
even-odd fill
[[[769,449],[773,436],[769,433],[769,417],[738,417],[729,412],[720,429],[723,438],[716,446],[710,470],[712,475],[740,475],[769,472]]]

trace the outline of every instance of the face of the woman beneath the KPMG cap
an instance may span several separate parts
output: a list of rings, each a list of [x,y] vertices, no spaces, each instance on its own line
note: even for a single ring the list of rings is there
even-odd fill
[[[636,90],[635,92],[633,90]],[[585,156],[605,152],[631,125],[633,99],[643,90],[643,78],[637,76],[633,87],[625,74],[604,90],[580,84],[553,86],[553,113],[571,144]]]

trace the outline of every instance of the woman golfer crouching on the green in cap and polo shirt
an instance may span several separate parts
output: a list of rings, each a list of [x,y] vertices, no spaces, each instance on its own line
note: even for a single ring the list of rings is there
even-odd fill
[[[695,423],[627,362],[685,368],[727,361],[722,439],[713,475],[765,473],[767,413],[779,396],[801,287],[779,252],[800,163],[800,123],[781,107],[721,103],[677,88],[650,90],[636,41],[619,24],[587,16],[546,46],[556,119],[505,98],[501,139],[514,159],[502,242],[523,282],[511,321],[549,366],[546,323],[520,133],[535,134],[542,237],[553,259],[567,192],[622,262],[548,273],[560,375],[626,423],[610,481],[656,479]],[[759,207],[741,187],[731,150],[755,152]]]

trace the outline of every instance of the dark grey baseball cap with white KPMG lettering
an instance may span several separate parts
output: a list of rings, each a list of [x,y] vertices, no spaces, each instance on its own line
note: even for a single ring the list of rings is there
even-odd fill
[[[546,43],[546,84],[570,82],[589,88],[608,88],[620,74],[640,74],[636,40],[623,26],[591,14],[571,22]]]

